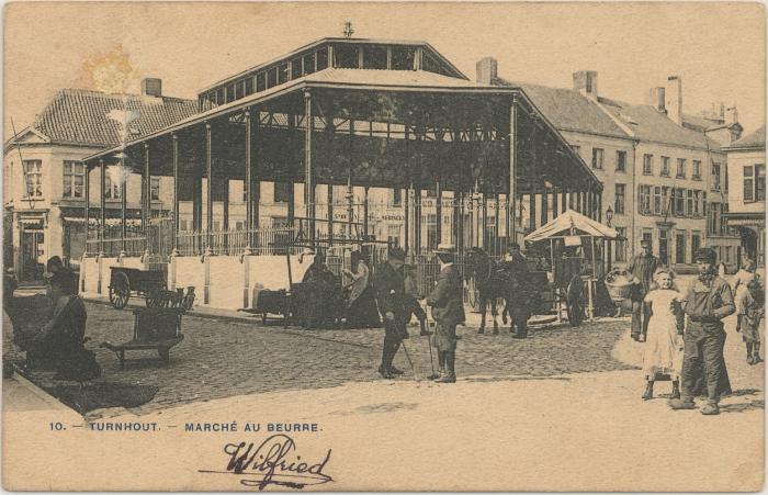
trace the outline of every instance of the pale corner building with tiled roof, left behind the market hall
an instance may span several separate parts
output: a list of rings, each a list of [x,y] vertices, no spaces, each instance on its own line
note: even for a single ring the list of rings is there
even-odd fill
[[[163,97],[159,79],[146,79],[142,94],[106,94],[83,89],[57,92],[3,146],[3,262],[22,281],[39,280],[43,263],[60,256],[77,263],[84,251],[84,168],[81,159],[166,127],[196,113],[191,100]],[[127,125],[126,125],[127,124]],[[90,202],[99,204],[99,170],[90,175]],[[140,177],[127,179],[128,217],[139,217]],[[114,223],[121,188],[105,177],[109,222]],[[168,211],[172,185],[153,182],[153,210]],[[94,223],[95,218],[91,218]]]

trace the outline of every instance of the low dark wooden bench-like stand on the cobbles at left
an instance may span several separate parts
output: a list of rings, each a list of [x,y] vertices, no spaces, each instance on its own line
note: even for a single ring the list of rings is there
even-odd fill
[[[114,345],[103,342],[101,347],[113,351],[120,359],[120,369],[125,369],[125,351],[157,349],[160,360],[170,364],[170,349],[184,339],[181,334],[179,307],[140,307],[134,310],[134,337],[127,342]]]

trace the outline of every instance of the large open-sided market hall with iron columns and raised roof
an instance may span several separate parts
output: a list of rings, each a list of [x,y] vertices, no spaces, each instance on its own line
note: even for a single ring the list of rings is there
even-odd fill
[[[200,304],[251,308],[259,291],[301,279],[304,247],[393,244],[369,225],[381,190],[405,192],[397,244],[415,255],[440,239],[460,255],[522,244],[523,203],[532,226],[567,209],[601,220],[600,181],[524,91],[472,82],[423,42],[319,40],[204,89],[199,104],[192,117],[84,160],[102,178],[108,167],[142,175],[143,204],[139,235],[128,235],[121,183],[117,235],[87,234],[87,296],[108,293],[110,267],[134,267],[166,271],[171,291],[194,286]],[[165,230],[149,201],[161,176],[173,178]],[[236,181],[246,220],[233,228]],[[261,224],[262,181],[289,184],[285,225]],[[104,188],[102,179],[98,207],[86,204],[100,225]],[[334,198],[345,188],[346,205]],[[180,229],[181,203],[192,205],[190,229]],[[431,239],[429,215],[439,220]]]

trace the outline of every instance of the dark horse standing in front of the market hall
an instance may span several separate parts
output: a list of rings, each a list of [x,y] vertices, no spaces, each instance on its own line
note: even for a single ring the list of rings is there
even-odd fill
[[[473,247],[466,254],[466,277],[472,277],[475,281],[475,289],[479,299],[481,327],[478,334],[485,334],[485,312],[490,303],[490,314],[494,317],[494,335],[498,335],[498,312],[496,311],[496,300],[506,300],[508,292],[508,278],[504,274],[499,265],[478,247]]]

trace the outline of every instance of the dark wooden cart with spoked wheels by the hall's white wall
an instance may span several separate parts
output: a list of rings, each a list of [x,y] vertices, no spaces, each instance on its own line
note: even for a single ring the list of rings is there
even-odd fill
[[[179,307],[190,310],[194,303],[194,288],[176,292],[166,290],[166,273],[159,270],[110,267],[110,303],[116,310],[128,305],[132,294],[144,297],[147,307]]]

